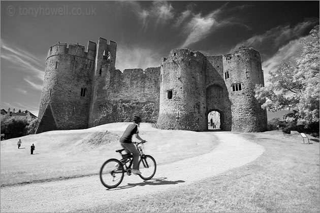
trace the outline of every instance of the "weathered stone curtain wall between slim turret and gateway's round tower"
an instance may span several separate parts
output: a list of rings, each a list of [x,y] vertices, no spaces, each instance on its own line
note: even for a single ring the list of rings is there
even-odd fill
[[[143,122],[155,123],[159,111],[160,67],[113,70],[95,100],[92,123],[131,122],[138,115]]]

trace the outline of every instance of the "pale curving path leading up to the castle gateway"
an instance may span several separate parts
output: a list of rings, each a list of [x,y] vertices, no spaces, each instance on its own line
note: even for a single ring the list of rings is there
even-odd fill
[[[1,188],[1,212],[66,212],[123,201],[199,182],[257,159],[264,148],[231,132],[207,132],[221,141],[212,152],[159,165],[152,180],[124,176],[119,188],[107,190],[99,175]],[[152,153],[150,153],[152,155]],[[155,159],[156,160],[156,159]],[[125,196],[124,196],[125,195]]]

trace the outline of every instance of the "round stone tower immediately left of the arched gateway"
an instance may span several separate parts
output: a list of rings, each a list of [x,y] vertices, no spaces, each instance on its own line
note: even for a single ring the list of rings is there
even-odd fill
[[[159,117],[162,129],[202,130],[206,126],[205,57],[175,49],[161,63]]]

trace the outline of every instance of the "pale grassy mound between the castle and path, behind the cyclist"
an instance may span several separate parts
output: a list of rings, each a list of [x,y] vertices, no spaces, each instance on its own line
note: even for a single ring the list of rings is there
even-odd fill
[[[86,130],[50,131],[1,141],[1,186],[97,175],[109,158],[120,159],[119,137],[128,123],[106,124]],[[145,154],[157,165],[175,162],[212,151],[218,140],[210,134],[193,131],[170,131],[140,125]],[[108,130],[108,132],[106,132]],[[135,136],[134,141],[138,141]],[[34,155],[30,146],[35,144]],[[192,150],[192,152],[190,152]],[[170,156],[170,157],[168,157]]]

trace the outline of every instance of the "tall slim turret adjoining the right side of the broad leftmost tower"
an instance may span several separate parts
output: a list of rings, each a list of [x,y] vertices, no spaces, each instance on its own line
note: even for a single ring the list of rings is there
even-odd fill
[[[115,70],[117,43],[99,38],[93,72],[89,127],[107,123],[104,105],[108,102],[111,72]],[[103,119],[101,119],[103,118]]]

